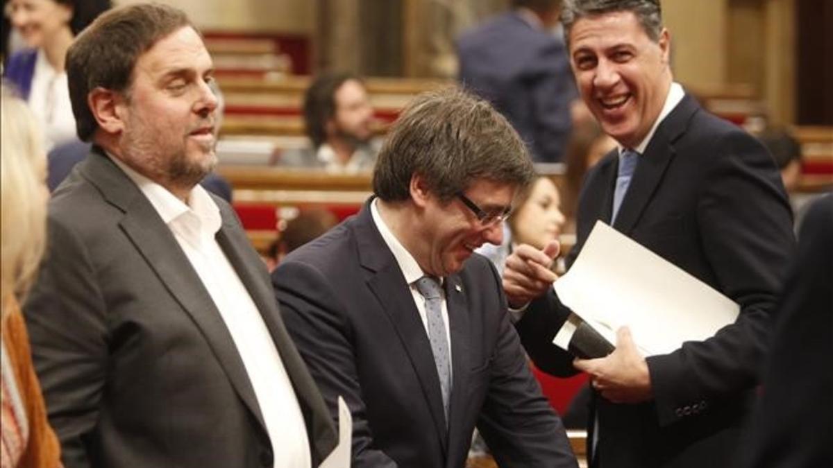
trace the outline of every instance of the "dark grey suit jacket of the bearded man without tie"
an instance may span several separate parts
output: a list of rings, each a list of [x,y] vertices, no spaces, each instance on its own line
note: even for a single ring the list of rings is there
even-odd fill
[[[313,461],[335,445],[265,266],[227,203],[217,241],[294,386]],[[139,188],[93,147],[49,204],[49,248],[25,306],[65,466],[271,466],[246,369],[211,296]]]

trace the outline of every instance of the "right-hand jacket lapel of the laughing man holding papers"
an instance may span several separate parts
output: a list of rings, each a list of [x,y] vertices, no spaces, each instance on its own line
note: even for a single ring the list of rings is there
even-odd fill
[[[631,185],[628,187],[619,214],[616,216],[616,222],[613,226],[618,231],[628,233],[636,226],[642,212],[651,202],[656,188],[659,187],[668,164],[676,157],[676,149],[673,143],[686,131],[687,123],[697,109],[699,109],[699,105],[696,101],[686,95],[674,110],[666,116],[665,120],[656,127],[656,132],[651,137],[651,142],[648,143],[645,154],[640,156]],[[613,185],[611,184],[608,187],[613,187]],[[607,217],[607,219],[610,219],[610,217]]]

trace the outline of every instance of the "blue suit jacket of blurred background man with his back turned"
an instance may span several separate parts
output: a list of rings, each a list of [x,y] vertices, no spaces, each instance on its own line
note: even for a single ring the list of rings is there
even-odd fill
[[[507,12],[463,34],[457,54],[462,85],[511,122],[535,161],[561,161],[576,98],[564,42]]]

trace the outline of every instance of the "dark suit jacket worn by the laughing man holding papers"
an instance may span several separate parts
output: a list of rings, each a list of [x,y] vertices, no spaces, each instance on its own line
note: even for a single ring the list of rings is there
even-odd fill
[[[611,220],[617,162],[611,152],[586,178],[568,264],[596,220]],[[706,341],[647,358],[654,400],[616,405],[594,395],[601,435],[593,462],[732,466],[795,244],[775,163],[753,137],[686,96],[640,156],[613,227],[736,301],[741,314]],[[566,312],[549,292],[517,324],[532,360],[561,376],[575,372],[572,357],[551,344]]]

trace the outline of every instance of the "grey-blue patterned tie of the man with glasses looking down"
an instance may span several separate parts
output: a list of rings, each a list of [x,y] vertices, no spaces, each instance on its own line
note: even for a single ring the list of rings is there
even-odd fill
[[[428,339],[431,352],[434,353],[436,374],[440,377],[442,409],[448,421],[448,396],[451,394],[451,363],[449,362],[446,325],[442,321],[442,294],[440,283],[432,276],[422,276],[416,280],[416,291],[425,297],[425,312],[428,318]]]

